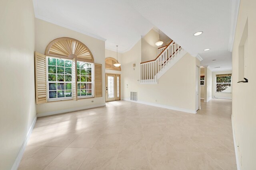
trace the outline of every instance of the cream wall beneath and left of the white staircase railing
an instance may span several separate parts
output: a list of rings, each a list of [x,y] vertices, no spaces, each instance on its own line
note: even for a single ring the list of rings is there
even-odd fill
[[[140,84],[140,58],[141,41],[123,54],[124,99],[130,98],[130,92],[138,92],[140,102],[195,110],[196,65],[200,66],[198,59],[187,53],[158,80],[158,84]],[[133,63],[136,63],[135,70]]]

